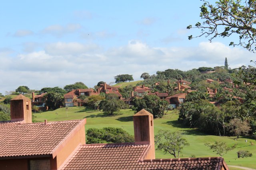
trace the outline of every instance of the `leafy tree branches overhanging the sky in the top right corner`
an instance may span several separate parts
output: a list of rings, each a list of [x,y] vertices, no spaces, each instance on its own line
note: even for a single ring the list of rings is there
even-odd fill
[[[197,22],[194,28],[200,29],[196,37],[230,37],[238,35],[238,42],[231,41],[229,45],[242,45],[249,51],[255,49],[255,0],[219,0],[212,4],[208,0],[200,7],[200,18],[203,23]],[[187,29],[193,28],[189,25]],[[192,35],[188,39],[194,38]]]

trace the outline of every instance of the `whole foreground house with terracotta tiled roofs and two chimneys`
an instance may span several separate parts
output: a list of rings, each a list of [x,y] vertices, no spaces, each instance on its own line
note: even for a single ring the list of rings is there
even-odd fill
[[[11,100],[0,122],[1,170],[228,170],[221,157],[156,159],[153,115],[133,115],[134,142],[85,144],[86,120],[31,123],[31,101]]]

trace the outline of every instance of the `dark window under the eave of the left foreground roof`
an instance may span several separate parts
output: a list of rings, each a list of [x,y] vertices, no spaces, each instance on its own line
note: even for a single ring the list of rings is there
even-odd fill
[[[29,170],[50,170],[50,159],[29,160]]]

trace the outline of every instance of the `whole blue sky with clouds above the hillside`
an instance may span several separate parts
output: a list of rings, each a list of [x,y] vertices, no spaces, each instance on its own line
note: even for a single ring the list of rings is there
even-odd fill
[[[250,64],[254,54],[212,43],[186,26],[200,21],[200,0],[1,1],[0,93],[28,86],[114,81],[117,74]]]

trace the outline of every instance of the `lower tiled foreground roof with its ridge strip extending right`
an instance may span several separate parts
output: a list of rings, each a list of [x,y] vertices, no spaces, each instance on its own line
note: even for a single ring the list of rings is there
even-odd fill
[[[62,170],[221,170],[223,158],[143,160],[149,145],[81,145]]]

